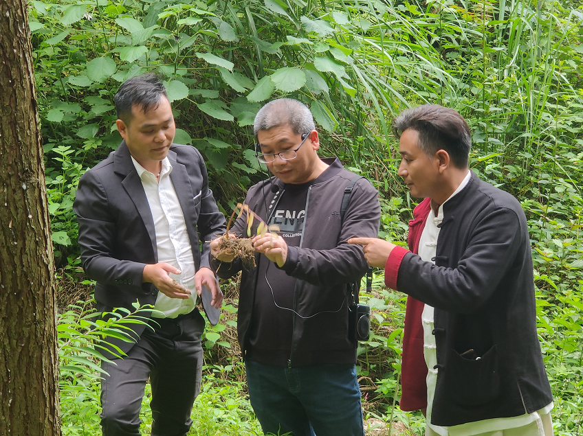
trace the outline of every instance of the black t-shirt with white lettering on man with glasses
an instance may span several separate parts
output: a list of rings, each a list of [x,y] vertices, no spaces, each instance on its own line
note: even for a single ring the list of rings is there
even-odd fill
[[[299,246],[304,231],[309,186],[286,185],[269,222],[289,246]],[[249,334],[248,358],[263,365],[287,366],[292,349],[294,288],[296,278],[261,255],[259,257],[255,301]]]

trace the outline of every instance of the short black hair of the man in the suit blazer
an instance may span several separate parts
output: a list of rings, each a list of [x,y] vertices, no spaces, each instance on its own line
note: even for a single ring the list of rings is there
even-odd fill
[[[129,124],[131,121],[131,108],[134,105],[146,113],[150,109],[158,107],[162,96],[168,99],[168,94],[162,81],[154,73],[146,73],[123,82],[118,92],[115,93],[113,102],[115,102],[115,111],[118,113],[118,118],[125,124]]]

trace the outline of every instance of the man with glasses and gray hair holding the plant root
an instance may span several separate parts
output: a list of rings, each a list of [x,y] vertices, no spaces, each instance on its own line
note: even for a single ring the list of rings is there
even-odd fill
[[[318,157],[314,119],[296,100],[263,106],[254,133],[257,157],[274,176],[251,187],[245,203],[280,231],[253,238],[256,266],[241,276],[239,344],[251,404],[265,433],[364,435],[349,284],[368,266],[347,240],[377,236],[377,192],[338,158]],[[246,218],[236,220],[237,236],[247,235]],[[210,244],[219,276],[241,271],[218,246]]]

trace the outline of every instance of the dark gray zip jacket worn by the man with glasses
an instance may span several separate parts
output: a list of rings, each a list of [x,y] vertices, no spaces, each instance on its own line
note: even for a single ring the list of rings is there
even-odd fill
[[[318,312],[338,308],[341,304],[342,309],[310,319],[294,315],[288,367],[356,362],[356,342],[349,338],[348,331],[347,284],[360,281],[369,266],[361,247],[348,244],[347,240],[355,236],[376,238],[379,231],[380,204],[371,183],[366,179],[357,181],[341,221],[344,189],[356,174],[344,170],[338,158],[322,161],[329,164],[329,168],[309,187],[301,246],[288,246],[287,260],[281,269],[297,279],[294,310],[301,308],[305,312]],[[273,192],[276,188],[277,192]],[[252,186],[245,204],[267,221],[283,192],[285,184],[272,177]],[[245,220],[236,220],[230,232],[246,236]],[[256,234],[256,223],[252,232],[252,235]],[[255,260],[258,265],[259,262],[270,262],[259,253],[256,253]],[[231,263],[212,259],[211,264],[215,270],[218,268],[218,275],[223,278],[242,269],[239,259]],[[243,359],[248,349],[257,271],[256,267],[243,269],[241,274],[237,330]]]

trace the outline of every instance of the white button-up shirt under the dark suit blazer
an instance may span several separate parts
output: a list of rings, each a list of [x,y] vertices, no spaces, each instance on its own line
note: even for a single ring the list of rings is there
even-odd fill
[[[181,274],[168,273],[168,275],[191,292],[187,299],[170,298],[163,292],[158,292],[154,308],[163,312],[164,315],[154,313],[152,317],[176,318],[195,308],[197,292],[195,290],[195,260],[192,257],[190,238],[188,238],[186,222],[178,196],[170,180],[172,165],[170,165],[168,157],[164,158],[158,183],[156,176],[144,169],[133,157],[131,161],[140,176],[146,198],[148,198],[148,205],[152,211],[158,262],[166,262],[178,268],[182,272]]]

